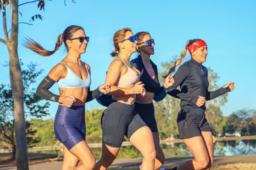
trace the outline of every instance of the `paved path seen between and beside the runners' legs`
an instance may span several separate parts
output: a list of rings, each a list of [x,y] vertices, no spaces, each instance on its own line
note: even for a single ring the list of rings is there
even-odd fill
[[[191,158],[167,158],[164,165],[177,165]],[[111,167],[129,167],[137,166],[141,163],[141,159],[117,159]],[[221,156],[215,157],[214,164],[227,164],[227,163],[256,163],[256,155],[237,155],[237,156]],[[30,170],[60,170],[62,162],[56,163],[37,163],[30,164]],[[120,168],[121,170],[122,168]],[[0,170],[16,170],[15,165],[1,165]]]

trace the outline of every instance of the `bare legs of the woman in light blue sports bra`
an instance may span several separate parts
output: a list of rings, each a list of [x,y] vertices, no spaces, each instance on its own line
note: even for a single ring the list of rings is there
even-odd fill
[[[64,147],[64,149],[65,148],[66,147]],[[77,164],[78,161],[75,157],[81,161],[81,164],[76,167],[74,167],[74,165]],[[95,158],[85,140],[73,146],[69,152],[68,150],[64,150],[64,161],[65,164],[63,163],[63,170],[68,168],[72,170],[92,170],[95,166]],[[68,163],[71,163],[71,161],[75,161],[75,163],[72,163],[71,166],[69,166]]]

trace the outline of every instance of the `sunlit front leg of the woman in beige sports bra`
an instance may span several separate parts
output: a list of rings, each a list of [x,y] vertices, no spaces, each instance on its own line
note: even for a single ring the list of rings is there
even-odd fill
[[[143,155],[141,170],[154,170],[156,150],[154,147],[154,137],[149,127],[143,126],[135,131],[130,137],[130,142]]]

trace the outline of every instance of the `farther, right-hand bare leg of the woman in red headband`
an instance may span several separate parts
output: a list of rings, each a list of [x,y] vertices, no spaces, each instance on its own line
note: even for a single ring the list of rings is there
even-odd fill
[[[203,142],[207,147],[208,155],[210,158],[210,162],[208,167],[205,170],[209,170],[213,164],[213,135],[210,131],[201,131]]]

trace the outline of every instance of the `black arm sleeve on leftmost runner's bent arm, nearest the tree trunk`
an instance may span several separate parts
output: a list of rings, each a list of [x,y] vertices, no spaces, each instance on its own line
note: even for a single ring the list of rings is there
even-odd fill
[[[49,91],[49,89],[54,85],[55,82],[56,81],[51,79],[49,76],[46,76],[38,85],[38,88],[36,89],[36,94],[46,100],[58,102],[60,96],[53,94]]]

